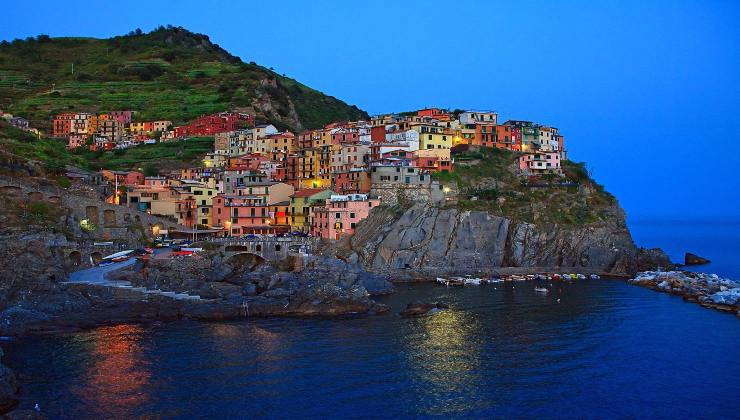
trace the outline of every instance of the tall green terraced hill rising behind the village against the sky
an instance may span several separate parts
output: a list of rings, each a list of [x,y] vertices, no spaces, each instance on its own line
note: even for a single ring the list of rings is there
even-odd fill
[[[254,62],[208,36],[160,27],[110,39],[36,38],[0,43],[0,109],[50,126],[63,111],[137,111],[136,120],[184,123],[238,110],[295,131],[367,114]]]

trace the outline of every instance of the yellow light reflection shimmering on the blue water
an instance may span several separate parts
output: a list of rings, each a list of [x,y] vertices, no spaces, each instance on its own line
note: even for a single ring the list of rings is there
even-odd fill
[[[449,415],[481,401],[481,326],[475,316],[448,310],[419,318],[405,337],[408,371],[426,415]]]

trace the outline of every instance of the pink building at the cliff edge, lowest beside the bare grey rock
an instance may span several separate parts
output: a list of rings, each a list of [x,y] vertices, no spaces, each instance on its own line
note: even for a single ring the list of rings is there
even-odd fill
[[[311,234],[335,240],[353,235],[357,223],[378,205],[380,200],[368,198],[367,194],[332,195],[323,207],[314,208]]]

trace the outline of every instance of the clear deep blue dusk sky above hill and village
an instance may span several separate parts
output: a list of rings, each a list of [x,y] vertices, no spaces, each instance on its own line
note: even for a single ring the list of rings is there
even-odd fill
[[[23,3],[1,39],[184,26],[371,114],[557,126],[631,219],[740,220],[740,2]]]

